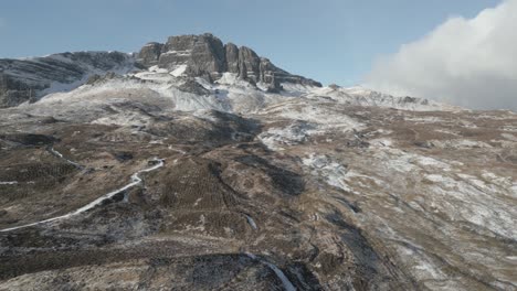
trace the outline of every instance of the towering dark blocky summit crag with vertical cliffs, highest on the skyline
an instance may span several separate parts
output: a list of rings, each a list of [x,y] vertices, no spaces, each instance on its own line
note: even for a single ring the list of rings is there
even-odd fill
[[[161,51],[158,53],[159,48]],[[146,67],[158,65],[167,69],[187,66],[189,76],[215,80],[222,73],[238,74],[253,84],[268,84],[270,91],[279,91],[282,83],[320,87],[321,84],[292,75],[260,57],[253,50],[233,43],[223,44],[212,34],[171,36],[167,43],[150,43],[138,54],[137,62]]]

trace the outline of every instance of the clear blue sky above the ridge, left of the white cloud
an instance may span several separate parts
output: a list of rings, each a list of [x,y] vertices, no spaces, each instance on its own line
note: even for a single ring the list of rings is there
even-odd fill
[[[355,85],[382,55],[497,0],[0,0],[0,57],[134,52],[212,32],[325,84]]]

